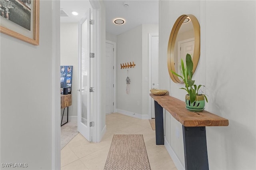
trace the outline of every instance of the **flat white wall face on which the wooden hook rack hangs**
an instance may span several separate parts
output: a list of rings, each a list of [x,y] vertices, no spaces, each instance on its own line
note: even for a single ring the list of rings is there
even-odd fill
[[[117,42],[116,107],[124,111],[142,114],[142,25],[119,34]],[[128,69],[131,83],[130,93],[126,94],[127,69],[120,69],[120,63],[132,61],[136,66]]]

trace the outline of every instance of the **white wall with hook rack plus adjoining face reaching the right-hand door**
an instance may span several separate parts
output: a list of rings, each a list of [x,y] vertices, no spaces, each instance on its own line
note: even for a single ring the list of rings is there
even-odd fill
[[[148,119],[149,89],[145,81],[148,79],[148,34],[157,32],[157,24],[142,24],[117,36],[116,94],[117,109],[121,113]],[[127,69],[120,69],[120,63],[132,61],[136,66],[128,69],[131,83],[130,93],[126,94]]]

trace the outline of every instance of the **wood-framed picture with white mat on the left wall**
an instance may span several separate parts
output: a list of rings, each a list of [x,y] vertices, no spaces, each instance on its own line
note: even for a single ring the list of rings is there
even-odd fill
[[[0,0],[0,32],[39,45],[39,0]]]

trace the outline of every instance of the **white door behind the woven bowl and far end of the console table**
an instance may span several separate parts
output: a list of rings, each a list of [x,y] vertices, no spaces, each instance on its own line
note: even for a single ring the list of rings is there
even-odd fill
[[[148,90],[159,89],[159,68],[158,68],[158,53],[159,53],[159,40],[158,33],[148,34]],[[148,112],[151,118],[155,118],[154,99],[149,96],[148,98]]]

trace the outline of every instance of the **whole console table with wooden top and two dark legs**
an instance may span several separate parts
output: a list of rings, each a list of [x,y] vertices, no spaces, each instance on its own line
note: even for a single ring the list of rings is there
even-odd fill
[[[208,111],[189,111],[184,101],[169,95],[150,96],[155,105],[156,144],[164,144],[164,108],[182,124],[186,170],[209,170],[205,127],[228,126],[228,119]]]

